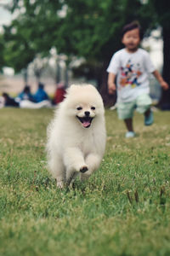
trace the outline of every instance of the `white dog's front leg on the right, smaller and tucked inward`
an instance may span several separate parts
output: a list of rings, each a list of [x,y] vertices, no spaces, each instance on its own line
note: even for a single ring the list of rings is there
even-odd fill
[[[88,154],[85,161],[88,166],[88,172],[81,173],[81,177],[80,177],[81,181],[88,179],[88,177],[90,177],[92,175],[92,173],[96,169],[98,169],[100,161],[101,161],[101,157],[99,157],[98,154]]]

